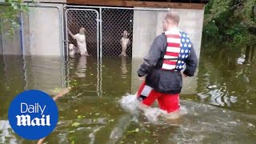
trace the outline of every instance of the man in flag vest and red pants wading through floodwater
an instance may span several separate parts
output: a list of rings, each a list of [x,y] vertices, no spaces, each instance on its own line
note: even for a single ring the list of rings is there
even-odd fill
[[[179,15],[175,11],[166,14],[162,27],[164,33],[154,39],[150,51],[138,70],[138,76],[146,76],[138,90],[138,100],[151,106],[158,99],[159,107],[167,113],[179,110],[179,94],[182,90],[181,70],[186,65],[185,77],[194,76],[198,58],[188,35],[178,29]]]

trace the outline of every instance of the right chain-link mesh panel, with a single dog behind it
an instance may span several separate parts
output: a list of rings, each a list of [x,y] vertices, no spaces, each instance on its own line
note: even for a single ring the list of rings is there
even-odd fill
[[[124,30],[129,33],[130,45],[126,55],[132,56],[134,10],[102,9],[102,57],[114,58],[122,53],[121,38]]]

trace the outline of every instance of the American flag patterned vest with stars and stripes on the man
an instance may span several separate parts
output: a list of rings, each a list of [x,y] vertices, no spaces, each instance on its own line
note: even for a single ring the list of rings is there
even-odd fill
[[[185,66],[186,58],[190,54],[192,43],[188,34],[178,30],[166,31],[167,47],[162,70],[181,71]]]

